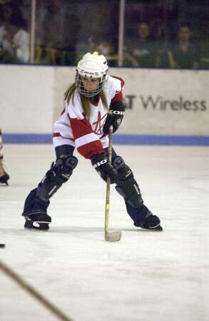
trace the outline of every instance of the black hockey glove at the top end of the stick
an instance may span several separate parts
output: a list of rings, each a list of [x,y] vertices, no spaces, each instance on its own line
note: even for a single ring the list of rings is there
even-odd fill
[[[121,125],[121,121],[123,121],[123,115],[125,113],[125,103],[123,101],[118,101],[116,103],[111,103],[110,113],[106,118],[106,122],[103,126],[103,133],[108,134],[109,128],[113,125],[113,133],[117,131],[118,127]]]

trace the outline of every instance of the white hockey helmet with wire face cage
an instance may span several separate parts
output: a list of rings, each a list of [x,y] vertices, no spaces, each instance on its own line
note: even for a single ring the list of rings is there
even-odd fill
[[[106,73],[108,71],[108,63],[105,56],[99,55],[97,51],[93,54],[89,52],[78,61],[76,68],[76,88],[78,93],[86,97],[93,97],[100,93],[103,89]],[[98,78],[98,87],[93,91],[87,91],[83,86],[83,78]]]

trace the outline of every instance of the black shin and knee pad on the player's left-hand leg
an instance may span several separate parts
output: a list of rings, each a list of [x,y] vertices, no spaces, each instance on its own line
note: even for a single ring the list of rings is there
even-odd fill
[[[36,197],[48,202],[49,198],[56,193],[63,183],[66,183],[76,168],[78,159],[75,156],[61,156],[56,163],[51,164],[43,180],[39,183]]]

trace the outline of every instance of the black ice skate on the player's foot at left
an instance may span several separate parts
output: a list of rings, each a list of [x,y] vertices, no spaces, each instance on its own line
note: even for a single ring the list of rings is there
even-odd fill
[[[34,230],[49,230],[49,223],[51,223],[51,217],[47,214],[32,214],[25,216],[26,223],[24,228]]]

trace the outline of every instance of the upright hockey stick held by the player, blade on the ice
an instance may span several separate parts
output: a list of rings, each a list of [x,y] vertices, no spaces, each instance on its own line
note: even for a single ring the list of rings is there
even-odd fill
[[[113,148],[113,126],[109,128],[109,146],[108,146],[108,161],[112,161],[112,148]],[[111,178],[107,178],[106,185],[106,216],[105,216],[105,240],[110,242],[117,242],[121,240],[121,232],[109,232],[108,221],[109,221],[109,205],[110,205],[110,193],[111,193]]]

